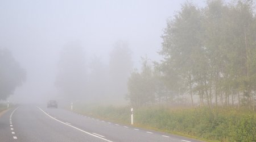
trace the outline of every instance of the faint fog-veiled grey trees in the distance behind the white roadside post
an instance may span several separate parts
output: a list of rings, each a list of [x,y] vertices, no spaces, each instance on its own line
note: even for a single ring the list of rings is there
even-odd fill
[[[107,63],[96,55],[86,59],[86,48],[69,43],[60,52],[55,81],[58,98],[86,103],[124,102],[132,69],[131,51],[125,41],[113,45]]]

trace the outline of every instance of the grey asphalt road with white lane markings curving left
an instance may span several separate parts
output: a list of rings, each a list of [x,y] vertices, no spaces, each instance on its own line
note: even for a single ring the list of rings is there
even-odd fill
[[[0,116],[0,141],[197,141],[75,114],[61,108],[19,106]]]

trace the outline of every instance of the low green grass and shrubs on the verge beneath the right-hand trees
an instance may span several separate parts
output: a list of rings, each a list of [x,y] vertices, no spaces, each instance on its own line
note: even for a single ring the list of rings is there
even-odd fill
[[[80,114],[130,124],[130,107],[76,106]],[[172,108],[148,106],[134,110],[134,126],[206,141],[256,141],[256,114],[232,107]]]

